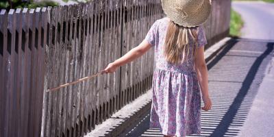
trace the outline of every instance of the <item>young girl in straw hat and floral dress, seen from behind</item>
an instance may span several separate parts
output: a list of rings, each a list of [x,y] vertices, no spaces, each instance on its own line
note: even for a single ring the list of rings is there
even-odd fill
[[[201,109],[208,111],[212,105],[204,59],[207,40],[201,27],[210,15],[211,1],[162,0],[162,8],[167,17],[155,21],[145,40],[108,64],[103,73],[114,73],[154,47],[149,126],[160,128],[164,136],[201,134]]]

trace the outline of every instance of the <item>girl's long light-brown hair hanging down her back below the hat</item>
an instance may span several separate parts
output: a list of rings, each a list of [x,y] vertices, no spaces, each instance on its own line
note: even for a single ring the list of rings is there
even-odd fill
[[[173,64],[181,64],[185,62],[190,53],[190,38],[192,38],[194,42],[192,47],[192,57],[195,58],[197,37],[197,27],[183,27],[170,21],[164,43],[164,56],[166,61]]]

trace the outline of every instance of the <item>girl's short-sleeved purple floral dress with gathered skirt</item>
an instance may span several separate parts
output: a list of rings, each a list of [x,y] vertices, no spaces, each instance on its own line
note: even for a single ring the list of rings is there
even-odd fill
[[[149,127],[159,128],[162,134],[169,136],[201,134],[201,94],[192,49],[183,64],[166,62],[163,46],[168,25],[167,17],[155,21],[145,38],[155,48]],[[203,27],[199,26],[198,47],[206,44]]]

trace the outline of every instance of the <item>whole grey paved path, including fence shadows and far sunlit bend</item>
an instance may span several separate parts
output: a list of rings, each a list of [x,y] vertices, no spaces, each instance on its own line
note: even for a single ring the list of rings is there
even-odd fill
[[[202,133],[192,136],[274,136],[274,5],[232,6],[245,20],[242,38],[208,63],[212,110],[202,111]],[[145,113],[121,136],[163,136],[149,118]]]

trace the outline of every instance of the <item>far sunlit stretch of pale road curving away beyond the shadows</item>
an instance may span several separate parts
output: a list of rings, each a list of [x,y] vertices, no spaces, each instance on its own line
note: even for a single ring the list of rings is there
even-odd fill
[[[234,1],[232,8],[245,21],[242,38],[274,40],[274,3]]]

